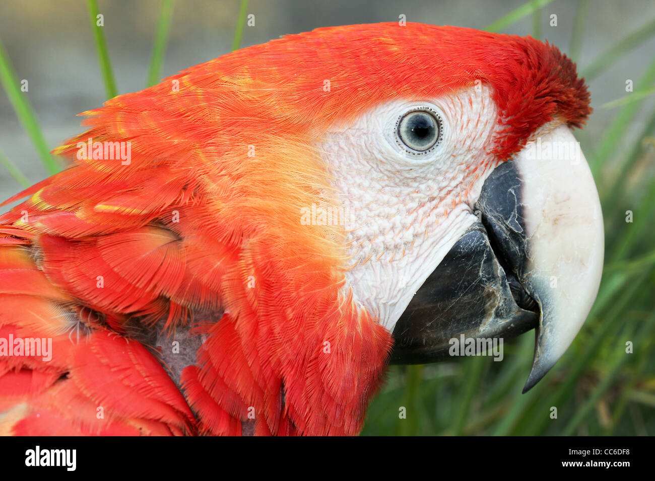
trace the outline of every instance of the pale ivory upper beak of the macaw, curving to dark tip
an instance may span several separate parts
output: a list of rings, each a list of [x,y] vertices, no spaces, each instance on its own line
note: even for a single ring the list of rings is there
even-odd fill
[[[519,279],[541,310],[536,384],[582,327],[603,272],[603,213],[591,171],[567,126],[529,143],[515,158],[522,181],[527,262]]]

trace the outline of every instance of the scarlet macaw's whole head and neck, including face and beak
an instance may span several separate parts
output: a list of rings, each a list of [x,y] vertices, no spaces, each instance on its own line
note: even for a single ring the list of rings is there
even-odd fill
[[[354,434],[389,361],[535,329],[529,389],[571,344],[603,262],[571,133],[590,111],[574,63],[530,37],[321,28],[86,113],[25,228],[107,319],[202,321],[179,382],[204,431]],[[130,160],[75,158],[87,139]]]

